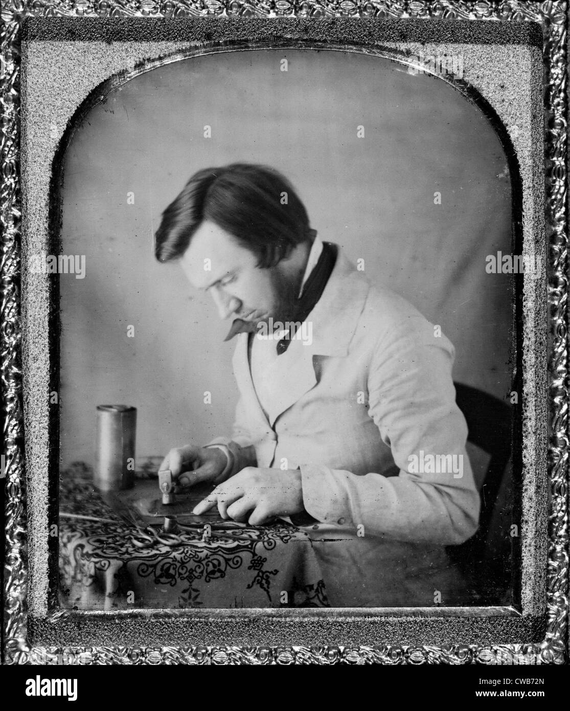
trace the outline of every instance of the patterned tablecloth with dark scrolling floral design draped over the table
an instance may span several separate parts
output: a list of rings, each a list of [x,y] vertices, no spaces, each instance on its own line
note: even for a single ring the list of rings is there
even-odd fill
[[[156,469],[154,470],[156,471]],[[139,471],[138,476],[146,476]],[[286,523],[164,535],[123,523],[75,467],[60,481],[60,599],[82,610],[328,606],[308,535]]]

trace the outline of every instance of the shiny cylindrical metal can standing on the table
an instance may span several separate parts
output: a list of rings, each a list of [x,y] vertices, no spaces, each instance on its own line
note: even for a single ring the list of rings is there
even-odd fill
[[[134,486],[136,407],[97,406],[97,452],[93,483],[101,491]]]

